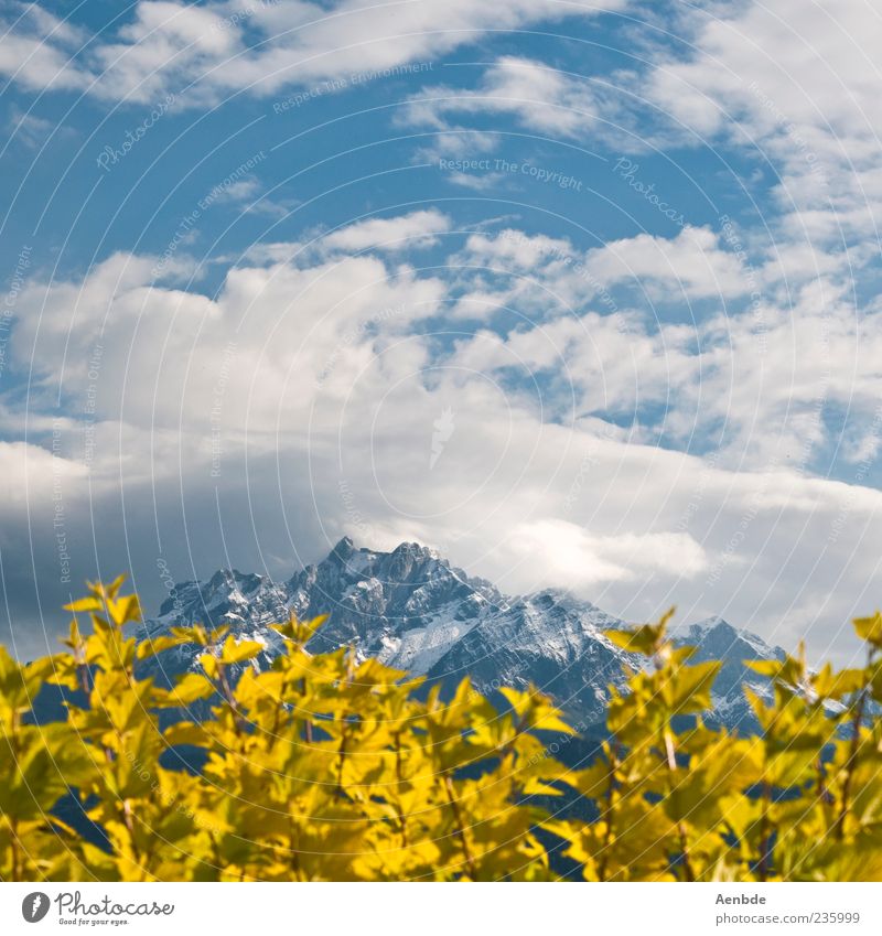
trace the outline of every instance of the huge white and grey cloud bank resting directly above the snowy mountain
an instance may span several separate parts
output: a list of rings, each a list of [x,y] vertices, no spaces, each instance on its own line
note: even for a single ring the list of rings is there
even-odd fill
[[[405,216],[399,230],[413,225]],[[33,574],[46,602],[60,589],[57,475],[72,575],[130,564],[148,603],[164,594],[159,560],[179,579],[222,564],[280,575],[348,532],[377,547],[422,540],[512,591],[569,581],[632,620],[676,596],[688,618],[724,613],[787,643],[808,621],[818,652],[838,639],[879,581],[868,545],[882,495],[860,476],[826,481],[799,464],[806,432],[824,431],[790,421],[814,411],[810,330],[767,320],[763,370],[750,311],[691,327],[652,327],[632,312],[627,330],[622,314],[584,306],[531,325],[451,320],[441,310],[481,276],[455,258],[483,254],[551,289],[553,275],[574,275],[559,256],[572,246],[462,236],[450,272],[428,276],[372,249],[385,235],[359,228],[345,245],[359,256],[276,245],[230,268],[215,298],[155,282],[155,258],[126,254],[22,291],[12,347],[34,363],[35,392],[26,411],[9,401],[3,412],[6,431],[29,441],[0,451],[12,478],[0,512],[8,537],[40,544]],[[679,247],[663,246],[664,272]],[[658,244],[615,250],[655,276]],[[845,359],[847,315],[804,301],[800,321],[814,308]],[[869,395],[879,359],[856,358],[828,392]],[[714,420],[738,440],[728,454],[724,443],[698,458],[653,438],[670,423],[684,447]]]

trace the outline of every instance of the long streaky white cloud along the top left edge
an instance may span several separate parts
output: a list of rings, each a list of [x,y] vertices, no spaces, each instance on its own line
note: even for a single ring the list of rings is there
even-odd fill
[[[364,84],[411,63],[431,63],[487,30],[595,17],[626,4],[411,0],[384,7],[338,0],[325,8],[280,0],[255,3],[244,15],[227,2],[140,0],[115,36],[95,37],[76,60],[67,49],[82,31],[36,7],[18,22],[8,20],[12,31],[0,40],[0,73],[29,88],[86,89],[111,100],[149,103],[186,87],[180,104],[195,106],[243,89],[269,95],[323,79]]]

